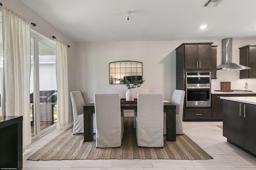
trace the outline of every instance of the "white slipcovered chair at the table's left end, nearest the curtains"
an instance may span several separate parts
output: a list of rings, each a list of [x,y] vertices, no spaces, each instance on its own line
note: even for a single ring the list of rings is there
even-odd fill
[[[73,107],[74,127],[73,135],[84,133],[84,98],[80,91],[70,92]],[[95,133],[95,114],[93,114],[93,132]]]

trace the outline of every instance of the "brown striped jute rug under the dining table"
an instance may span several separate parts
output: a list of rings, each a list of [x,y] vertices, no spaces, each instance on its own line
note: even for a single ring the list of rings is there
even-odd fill
[[[70,127],[36,151],[28,160],[82,160],[82,159],[213,159],[187,135],[176,135],[176,142],[166,141],[164,148],[138,147],[133,117],[125,117],[121,147],[96,148],[95,138],[84,142],[84,134],[72,134]],[[95,137],[95,135],[94,135]]]

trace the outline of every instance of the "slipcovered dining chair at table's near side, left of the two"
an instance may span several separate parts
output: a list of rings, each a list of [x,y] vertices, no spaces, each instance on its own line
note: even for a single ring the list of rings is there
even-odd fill
[[[94,94],[96,147],[120,147],[124,133],[124,114],[119,94]]]

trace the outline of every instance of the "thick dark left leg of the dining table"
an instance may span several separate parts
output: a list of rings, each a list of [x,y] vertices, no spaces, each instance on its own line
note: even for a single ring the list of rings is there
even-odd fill
[[[84,141],[93,140],[93,110],[84,110]]]

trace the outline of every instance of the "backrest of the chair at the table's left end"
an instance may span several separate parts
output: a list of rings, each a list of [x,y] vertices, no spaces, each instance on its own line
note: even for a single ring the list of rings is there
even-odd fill
[[[80,91],[70,92],[72,107],[73,107],[73,115],[77,117],[80,114],[84,113],[84,98]]]

